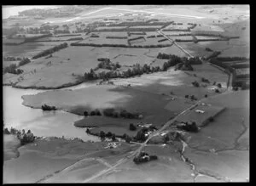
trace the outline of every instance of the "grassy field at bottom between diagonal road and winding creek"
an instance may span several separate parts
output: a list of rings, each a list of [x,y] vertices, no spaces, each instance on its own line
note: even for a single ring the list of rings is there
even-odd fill
[[[136,165],[128,161],[118,167],[116,172],[110,172],[104,177],[93,180],[96,183],[179,183],[193,182],[193,171],[186,165],[175,152],[172,146],[148,146],[145,151],[149,155],[158,155],[157,161]],[[166,173],[168,172],[168,173]]]

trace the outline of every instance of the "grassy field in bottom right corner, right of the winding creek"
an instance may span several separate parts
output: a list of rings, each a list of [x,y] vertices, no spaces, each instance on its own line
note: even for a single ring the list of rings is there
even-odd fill
[[[195,167],[200,172],[226,182],[247,182],[249,178],[248,151],[226,150],[215,154],[188,148],[185,155],[195,162]]]

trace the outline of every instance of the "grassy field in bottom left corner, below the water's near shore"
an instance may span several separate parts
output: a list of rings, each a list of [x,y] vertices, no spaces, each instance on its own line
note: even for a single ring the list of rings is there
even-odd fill
[[[84,153],[97,150],[102,150],[102,143],[38,139],[21,147],[18,158],[4,162],[3,183],[35,183],[79,161]]]

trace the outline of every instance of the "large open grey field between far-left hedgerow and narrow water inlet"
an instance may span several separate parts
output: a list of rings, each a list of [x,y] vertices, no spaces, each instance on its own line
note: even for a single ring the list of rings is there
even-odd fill
[[[24,70],[21,75],[5,74],[3,83],[13,82],[20,87],[65,87],[82,82],[84,72],[95,68],[98,58],[109,58],[120,65],[149,65],[157,54],[157,48],[68,47],[52,54],[48,59],[42,57],[21,66],[20,69]],[[36,72],[32,72],[33,70]]]

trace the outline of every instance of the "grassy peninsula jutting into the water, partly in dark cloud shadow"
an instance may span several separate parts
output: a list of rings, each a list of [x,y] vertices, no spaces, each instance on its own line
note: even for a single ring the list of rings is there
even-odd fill
[[[67,99],[73,98],[73,99]],[[115,119],[103,116],[86,117],[76,122],[78,127],[125,127],[131,122],[150,122],[156,126],[165,123],[176,108],[166,110],[168,96],[148,93],[129,87],[96,86],[74,91],[59,90],[23,96],[25,105],[40,108],[42,104],[55,105],[60,110],[83,115],[84,110],[115,108],[143,114],[143,120]],[[150,100],[150,101],[148,101]],[[154,106],[153,106],[154,105]]]

